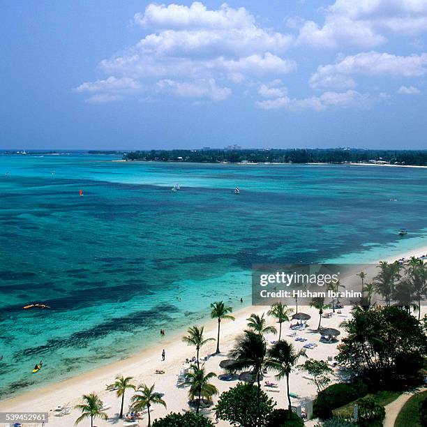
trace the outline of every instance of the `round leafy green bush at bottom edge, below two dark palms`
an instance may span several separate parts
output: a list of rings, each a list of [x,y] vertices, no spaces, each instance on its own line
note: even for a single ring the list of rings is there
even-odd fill
[[[254,384],[239,382],[224,391],[215,407],[216,417],[231,426],[265,426],[276,403]]]

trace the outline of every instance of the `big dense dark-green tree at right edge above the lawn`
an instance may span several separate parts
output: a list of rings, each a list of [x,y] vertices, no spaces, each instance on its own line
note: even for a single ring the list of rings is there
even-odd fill
[[[355,307],[338,346],[338,361],[363,374],[377,389],[402,387],[426,361],[427,336],[421,322],[396,306]]]

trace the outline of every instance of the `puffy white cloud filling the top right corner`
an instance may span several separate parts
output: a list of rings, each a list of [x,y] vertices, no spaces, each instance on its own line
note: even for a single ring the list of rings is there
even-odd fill
[[[427,31],[426,0],[336,0],[322,9],[323,24],[306,21],[298,41],[317,47],[375,47],[387,33],[414,35]]]

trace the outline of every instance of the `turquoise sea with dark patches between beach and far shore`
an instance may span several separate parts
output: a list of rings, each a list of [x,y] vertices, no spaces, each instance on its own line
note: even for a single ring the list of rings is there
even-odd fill
[[[427,170],[114,159],[0,156],[3,398],[201,322],[212,301],[246,304],[253,263],[427,246]],[[22,310],[38,301],[52,309]]]

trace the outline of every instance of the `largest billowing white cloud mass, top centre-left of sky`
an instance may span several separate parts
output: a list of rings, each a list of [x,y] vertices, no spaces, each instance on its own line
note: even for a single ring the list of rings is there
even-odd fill
[[[77,91],[98,93],[106,91],[105,87],[113,91],[119,80],[127,82],[130,90],[130,82],[151,85],[153,89],[153,80],[193,82],[199,89],[200,82],[213,81],[218,87],[226,87],[225,81],[239,84],[297,68],[295,61],[283,57],[293,36],[260,27],[246,8],[224,3],[209,10],[197,1],[190,6],[151,3],[144,13],[135,14],[134,20],[149,33],[120,54],[100,62],[106,75],[117,77],[84,83]]]

